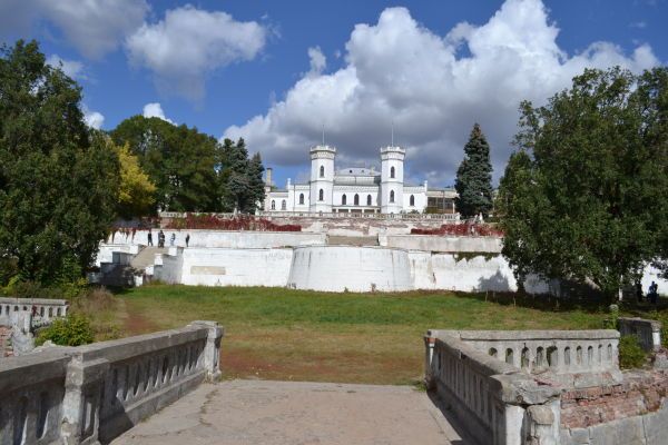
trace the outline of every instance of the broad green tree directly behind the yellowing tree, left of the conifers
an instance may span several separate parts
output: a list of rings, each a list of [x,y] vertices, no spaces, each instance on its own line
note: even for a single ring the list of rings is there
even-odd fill
[[[171,211],[220,210],[217,174],[218,141],[197,128],[175,126],[159,118],[132,116],[111,132],[114,141],[128,144],[156,185],[155,202]]]

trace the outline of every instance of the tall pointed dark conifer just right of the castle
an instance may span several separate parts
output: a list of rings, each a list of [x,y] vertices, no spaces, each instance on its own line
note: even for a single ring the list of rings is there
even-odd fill
[[[464,159],[456,170],[454,182],[458,197],[455,205],[460,214],[471,218],[479,214],[488,216],[492,209],[492,164],[490,146],[475,123],[464,146]]]

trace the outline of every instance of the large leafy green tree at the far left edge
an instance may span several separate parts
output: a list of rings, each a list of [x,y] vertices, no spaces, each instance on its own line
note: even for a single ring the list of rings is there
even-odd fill
[[[118,160],[80,100],[37,42],[0,49],[0,257],[23,279],[80,277],[115,216]]]

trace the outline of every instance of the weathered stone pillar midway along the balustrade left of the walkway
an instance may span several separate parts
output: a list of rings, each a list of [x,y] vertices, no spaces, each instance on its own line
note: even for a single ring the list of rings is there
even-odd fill
[[[62,400],[63,444],[98,444],[100,408],[109,362],[105,358],[85,360],[75,354],[67,365]]]

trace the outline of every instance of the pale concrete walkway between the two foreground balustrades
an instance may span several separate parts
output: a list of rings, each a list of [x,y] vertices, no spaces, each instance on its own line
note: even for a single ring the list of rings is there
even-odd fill
[[[407,386],[233,380],[202,385],[114,445],[463,445]]]

